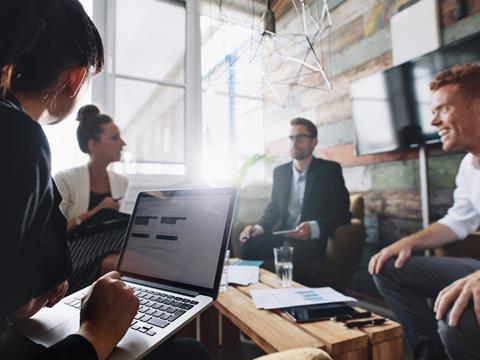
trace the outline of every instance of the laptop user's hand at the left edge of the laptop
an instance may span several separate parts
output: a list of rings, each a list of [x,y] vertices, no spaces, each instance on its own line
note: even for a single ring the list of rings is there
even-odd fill
[[[64,281],[39,297],[33,298],[8,316],[10,321],[16,322],[26,320],[35,315],[44,306],[52,307],[59,302],[67,292],[68,282]]]

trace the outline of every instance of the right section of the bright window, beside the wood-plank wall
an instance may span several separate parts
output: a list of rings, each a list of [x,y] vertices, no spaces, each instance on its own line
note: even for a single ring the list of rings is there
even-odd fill
[[[201,17],[201,29],[203,171],[210,182],[232,182],[247,159],[265,152],[261,63],[237,58],[250,41],[244,29],[208,15]],[[255,165],[248,179],[263,180],[263,165]]]

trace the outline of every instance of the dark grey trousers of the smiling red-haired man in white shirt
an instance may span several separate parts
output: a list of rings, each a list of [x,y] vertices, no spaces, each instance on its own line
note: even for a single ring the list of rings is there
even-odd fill
[[[448,317],[437,321],[427,298],[435,300],[440,290],[480,269],[480,261],[468,258],[412,256],[401,269],[395,259],[387,261],[374,276],[378,290],[404,326],[415,359],[478,359],[480,327],[470,303],[457,327]],[[453,304],[452,304],[453,305]]]

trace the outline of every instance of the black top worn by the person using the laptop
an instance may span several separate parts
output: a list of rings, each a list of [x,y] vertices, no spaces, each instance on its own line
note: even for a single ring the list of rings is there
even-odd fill
[[[40,125],[7,95],[0,98],[3,154],[0,210],[0,337],[7,316],[67,279],[72,271],[60,193],[50,174],[50,148]],[[1,351],[0,351],[1,352]],[[72,335],[39,358],[96,359],[93,346]]]

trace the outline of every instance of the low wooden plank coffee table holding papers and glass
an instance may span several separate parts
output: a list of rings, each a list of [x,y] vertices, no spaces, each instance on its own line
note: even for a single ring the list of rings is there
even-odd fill
[[[302,285],[294,283],[293,286]],[[275,274],[260,269],[260,282],[250,286],[229,286],[219,295],[215,305],[203,313],[196,327],[183,335],[194,335],[210,350],[218,346],[236,345],[240,331],[266,353],[299,347],[316,347],[334,359],[392,359],[403,354],[402,327],[394,321],[385,324],[347,329],[342,323],[317,321],[297,324],[280,311],[258,310],[250,298],[250,290],[276,288]],[[375,318],[378,316],[373,316]]]

